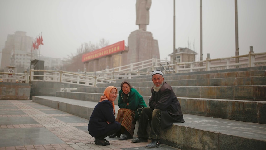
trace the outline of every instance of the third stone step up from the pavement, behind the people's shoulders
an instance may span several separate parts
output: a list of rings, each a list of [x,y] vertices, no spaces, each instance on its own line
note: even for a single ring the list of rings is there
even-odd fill
[[[170,83],[171,84],[171,83]],[[107,87],[107,86],[106,86]],[[80,87],[77,92],[103,93],[106,87]],[[118,91],[120,86],[116,87]],[[141,95],[151,96],[151,86],[134,87]],[[172,86],[177,97],[266,101],[266,86]]]

